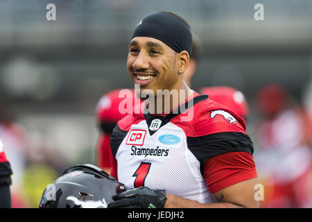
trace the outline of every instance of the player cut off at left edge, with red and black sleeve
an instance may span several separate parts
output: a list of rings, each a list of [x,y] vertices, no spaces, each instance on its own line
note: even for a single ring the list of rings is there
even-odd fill
[[[10,166],[10,162],[6,157],[6,153],[4,153],[4,147],[0,138],[0,208],[11,207],[11,174],[12,169]]]

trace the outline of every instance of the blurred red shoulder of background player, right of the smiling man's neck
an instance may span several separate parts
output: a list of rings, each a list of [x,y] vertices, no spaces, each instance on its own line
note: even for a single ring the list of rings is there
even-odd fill
[[[216,86],[216,87],[203,87],[200,89],[200,94],[207,94],[209,99],[216,101],[227,108],[239,114],[245,121],[248,118],[249,108],[244,94],[232,87]]]

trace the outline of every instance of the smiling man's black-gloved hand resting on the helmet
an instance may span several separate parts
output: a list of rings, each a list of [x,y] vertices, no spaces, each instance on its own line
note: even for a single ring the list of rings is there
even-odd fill
[[[112,199],[114,202],[109,203],[108,208],[162,208],[167,200],[164,189],[149,189],[148,187],[128,189],[112,196]]]

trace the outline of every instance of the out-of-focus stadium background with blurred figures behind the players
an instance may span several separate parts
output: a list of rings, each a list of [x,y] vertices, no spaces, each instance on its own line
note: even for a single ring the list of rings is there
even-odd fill
[[[64,169],[95,163],[96,104],[133,87],[130,37],[162,10],[184,17],[202,42],[193,89],[227,85],[245,95],[261,205],[312,207],[311,0],[1,0],[0,135],[14,172],[12,207],[37,207]]]

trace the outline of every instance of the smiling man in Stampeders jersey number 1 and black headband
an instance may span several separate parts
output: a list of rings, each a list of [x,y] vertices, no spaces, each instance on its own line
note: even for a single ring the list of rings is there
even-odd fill
[[[171,12],[135,29],[127,66],[146,109],[113,130],[111,175],[133,189],[108,207],[259,206],[245,121],[184,83],[191,47],[189,24]]]

